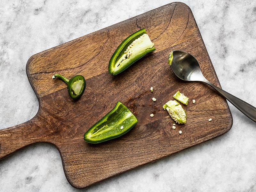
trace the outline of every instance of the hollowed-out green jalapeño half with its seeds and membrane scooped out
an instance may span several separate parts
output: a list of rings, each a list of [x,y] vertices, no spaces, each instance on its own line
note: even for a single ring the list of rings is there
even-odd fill
[[[137,123],[132,112],[118,101],[107,115],[84,133],[84,140],[88,143],[100,143],[114,139],[130,131]]]

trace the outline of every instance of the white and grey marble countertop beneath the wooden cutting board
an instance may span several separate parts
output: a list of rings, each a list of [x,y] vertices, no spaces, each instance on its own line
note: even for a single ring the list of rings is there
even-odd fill
[[[256,106],[256,2],[182,2],[194,14],[222,88]],[[0,129],[36,115],[25,71],[31,55],[168,3],[2,0]],[[256,124],[229,106],[233,126],[226,134],[81,191],[256,191]],[[58,150],[38,143],[0,161],[0,191],[78,190],[66,180]]]

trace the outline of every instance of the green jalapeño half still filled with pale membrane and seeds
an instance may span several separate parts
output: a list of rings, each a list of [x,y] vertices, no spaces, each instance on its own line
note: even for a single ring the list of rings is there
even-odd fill
[[[117,47],[109,60],[108,72],[117,75],[131,66],[135,61],[154,50],[156,49],[150,41],[148,34],[146,34],[146,30],[144,28],[140,29],[124,39]]]

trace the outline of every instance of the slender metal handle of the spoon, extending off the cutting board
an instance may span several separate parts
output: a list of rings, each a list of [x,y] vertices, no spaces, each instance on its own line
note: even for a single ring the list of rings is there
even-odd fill
[[[230,103],[232,103],[236,108],[238,108],[244,115],[249,117],[252,121],[256,122],[256,108],[246,103],[245,101],[231,95],[230,93],[220,89],[219,87],[213,85],[209,81],[205,80],[205,83],[212,86],[213,89],[218,91],[223,97],[225,97]]]

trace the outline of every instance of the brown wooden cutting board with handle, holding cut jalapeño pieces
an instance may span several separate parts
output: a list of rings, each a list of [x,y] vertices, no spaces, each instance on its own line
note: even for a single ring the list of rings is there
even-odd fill
[[[141,28],[146,28],[156,51],[123,73],[110,75],[111,55]],[[205,84],[178,79],[167,62],[172,50],[193,54],[204,76],[220,87],[193,14],[183,3],[167,4],[33,55],[26,70],[39,110],[30,121],[0,130],[0,159],[35,142],[52,143],[60,151],[68,182],[84,188],[228,132],[233,121],[226,100]],[[66,84],[52,79],[54,73],[83,75],[83,96],[70,99]],[[173,120],[162,106],[178,90],[189,97],[188,106],[182,105],[188,118],[173,130]],[[138,124],[122,137],[86,143],[84,132],[117,101],[137,116]]]

